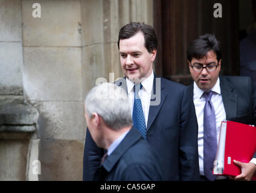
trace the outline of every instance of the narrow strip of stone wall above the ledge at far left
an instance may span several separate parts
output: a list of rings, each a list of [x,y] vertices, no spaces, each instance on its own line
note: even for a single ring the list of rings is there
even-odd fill
[[[0,93],[22,95],[21,1],[0,1],[0,18]]]

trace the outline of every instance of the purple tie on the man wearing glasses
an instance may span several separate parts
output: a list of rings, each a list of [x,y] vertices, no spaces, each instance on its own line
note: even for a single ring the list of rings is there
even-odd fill
[[[205,107],[203,109],[203,171],[208,180],[215,180],[213,162],[217,152],[216,117],[211,96],[213,91],[203,93]]]

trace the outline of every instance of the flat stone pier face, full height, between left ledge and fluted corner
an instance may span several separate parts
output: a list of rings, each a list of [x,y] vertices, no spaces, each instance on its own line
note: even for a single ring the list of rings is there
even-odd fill
[[[80,1],[22,1],[24,95],[39,111],[39,180],[81,180],[85,119]]]

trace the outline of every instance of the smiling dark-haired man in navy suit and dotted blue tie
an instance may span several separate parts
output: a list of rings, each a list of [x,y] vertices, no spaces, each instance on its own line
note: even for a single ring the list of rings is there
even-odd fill
[[[126,77],[116,84],[127,90],[133,125],[158,153],[163,179],[197,180],[197,121],[193,101],[185,86],[154,74],[157,43],[155,30],[149,25],[135,22],[124,25],[118,37],[118,48]],[[93,179],[103,152],[87,132],[84,180]]]

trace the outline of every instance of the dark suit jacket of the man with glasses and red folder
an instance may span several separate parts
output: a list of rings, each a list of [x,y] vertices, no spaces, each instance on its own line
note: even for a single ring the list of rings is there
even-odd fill
[[[249,77],[220,76],[226,120],[256,125],[256,90]],[[194,85],[188,86],[193,98]],[[256,158],[256,153],[254,154]]]

